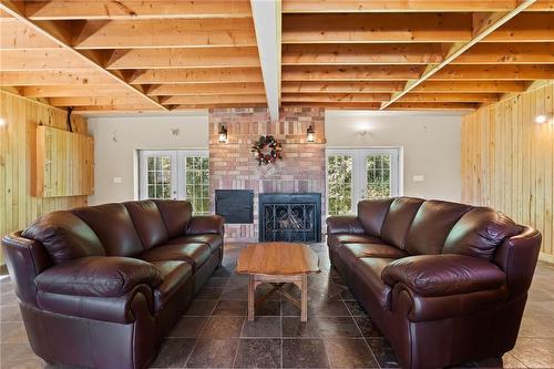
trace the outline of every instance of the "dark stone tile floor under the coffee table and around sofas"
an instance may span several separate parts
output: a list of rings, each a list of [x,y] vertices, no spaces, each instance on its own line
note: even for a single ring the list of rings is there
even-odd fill
[[[322,273],[309,278],[308,322],[280,294],[246,320],[247,278],[233,273],[243,245],[226,246],[216,270],[161,347],[153,368],[397,368],[370,316],[329,270],[327,248],[312,245]],[[264,286],[258,287],[261,293]],[[1,290],[0,368],[47,368],[29,347],[11,283]],[[293,294],[297,293],[290,287]],[[369,314],[370,315],[370,314]],[[554,368],[554,266],[540,263],[516,347],[502,360],[462,367]],[[57,367],[59,368],[59,367]]]

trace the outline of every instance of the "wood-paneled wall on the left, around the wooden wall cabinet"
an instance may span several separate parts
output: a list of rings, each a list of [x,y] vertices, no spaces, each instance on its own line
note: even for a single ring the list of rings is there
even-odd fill
[[[0,91],[0,116],[6,122],[0,126],[0,235],[22,229],[44,213],[86,205],[86,196],[33,196],[37,126],[66,130],[65,111]],[[86,120],[73,116],[73,131],[86,133]]]

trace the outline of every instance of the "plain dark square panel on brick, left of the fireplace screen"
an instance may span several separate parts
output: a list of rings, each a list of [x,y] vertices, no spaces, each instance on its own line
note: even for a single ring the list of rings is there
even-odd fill
[[[226,224],[254,223],[254,191],[216,189],[215,214],[223,216]]]

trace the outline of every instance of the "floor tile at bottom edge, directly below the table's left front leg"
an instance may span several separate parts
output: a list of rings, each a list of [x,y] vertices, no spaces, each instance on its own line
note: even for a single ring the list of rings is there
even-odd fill
[[[280,339],[240,339],[235,368],[280,368]]]

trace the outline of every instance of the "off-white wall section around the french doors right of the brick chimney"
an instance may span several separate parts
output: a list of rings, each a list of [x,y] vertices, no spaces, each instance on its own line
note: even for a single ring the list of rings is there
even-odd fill
[[[461,198],[460,115],[327,111],[327,147],[402,147],[404,195],[458,202]],[[413,175],[423,175],[424,181],[414,182]]]

